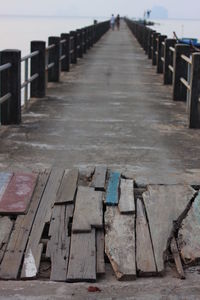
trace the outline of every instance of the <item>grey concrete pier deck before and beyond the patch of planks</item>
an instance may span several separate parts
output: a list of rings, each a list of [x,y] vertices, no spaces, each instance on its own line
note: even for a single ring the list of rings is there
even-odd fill
[[[172,101],[125,25],[33,101],[21,126],[0,131],[3,171],[106,164],[139,183],[200,183],[200,131],[187,128],[185,104]],[[88,284],[0,282],[0,299],[199,299],[193,271],[186,281],[170,271],[129,283],[110,271],[94,295]]]

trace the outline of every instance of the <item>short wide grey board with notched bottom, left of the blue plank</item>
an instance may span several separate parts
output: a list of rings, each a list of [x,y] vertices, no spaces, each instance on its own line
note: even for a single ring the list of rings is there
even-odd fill
[[[90,232],[92,227],[103,228],[102,192],[79,186],[76,196],[72,232]]]

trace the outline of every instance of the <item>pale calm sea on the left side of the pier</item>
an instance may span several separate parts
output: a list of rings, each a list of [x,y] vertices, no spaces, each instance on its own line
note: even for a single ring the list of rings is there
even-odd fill
[[[93,24],[93,18],[0,16],[0,50],[30,52],[31,40],[47,41],[49,36]]]

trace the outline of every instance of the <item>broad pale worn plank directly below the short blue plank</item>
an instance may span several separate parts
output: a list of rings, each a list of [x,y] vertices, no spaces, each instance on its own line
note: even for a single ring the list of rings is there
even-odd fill
[[[117,279],[135,279],[135,216],[120,214],[118,207],[107,207],[105,228],[105,251]]]

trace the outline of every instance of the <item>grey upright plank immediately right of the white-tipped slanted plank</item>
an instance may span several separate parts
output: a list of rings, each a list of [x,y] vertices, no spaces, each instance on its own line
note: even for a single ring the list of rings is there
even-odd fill
[[[66,281],[69,260],[70,236],[69,219],[73,215],[73,205],[55,205],[50,223],[50,240],[47,244],[47,256],[51,259],[53,281]]]

